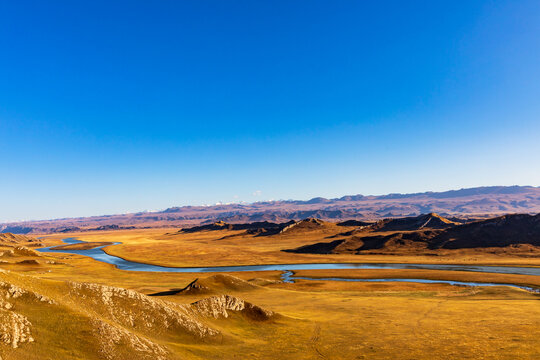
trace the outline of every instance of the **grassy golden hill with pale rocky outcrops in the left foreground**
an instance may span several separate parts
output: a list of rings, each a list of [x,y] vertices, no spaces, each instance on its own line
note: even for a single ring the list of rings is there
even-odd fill
[[[175,355],[181,348],[243,341],[225,333],[229,318],[234,326],[256,322],[260,328],[278,317],[231,295],[175,303],[114,286],[0,269],[3,359],[184,358]]]

